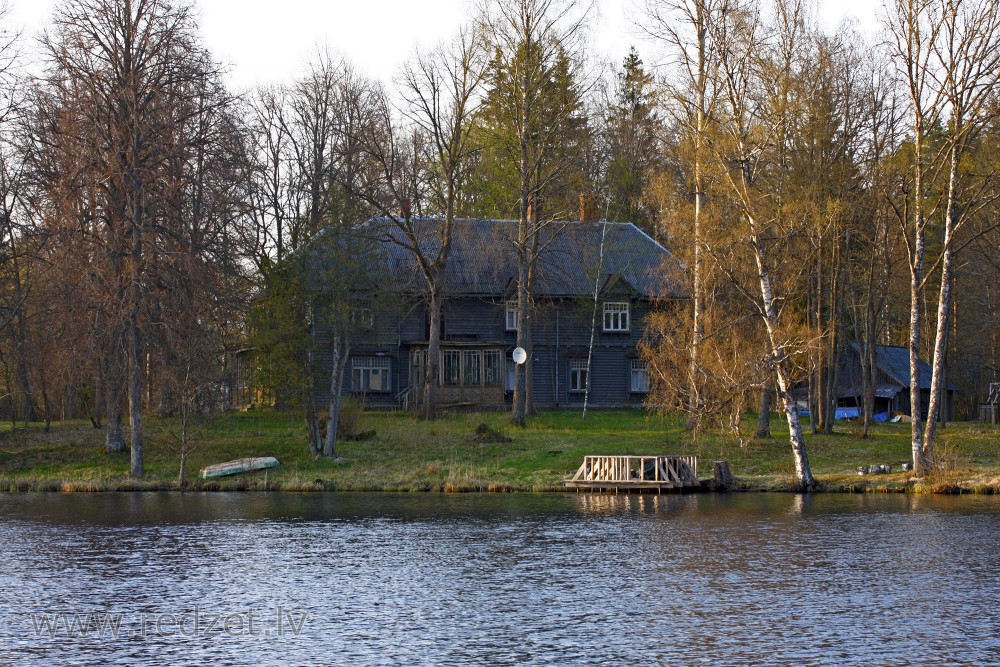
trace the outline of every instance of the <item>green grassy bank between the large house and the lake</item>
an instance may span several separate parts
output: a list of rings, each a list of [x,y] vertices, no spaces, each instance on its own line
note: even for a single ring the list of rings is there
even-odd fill
[[[476,426],[486,423],[510,442],[481,444]],[[103,431],[88,423],[8,424],[0,430],[0,492],[101,491],[176,488],[179,452],[170,435],[176,423],[149,420],[146,476],[130,479],[128,453],[107,454]],[[725,433],[693,438],[683,422],[642,411],[547,412],[515,429],[501,413],[460,414],[420,421],[401,413],[365,413],[361,430],[374,438],[342,442],[347,460],[314,460],[304,429],[293,416],[273,412],[229,413],[215,419],[189,456],[190,488],[202,490],[531,491],[562,488],[586,454],[697,454],[700,475],[713,460],[728,460],[745,488],[790,488],[792,464],[787,430],[772,422],[774,437],[741,447]],[[834,435],[808,435],[813,472],[833,491],[1000,491],[1000,431],[977,424],[949,424],[941,435],[945,467],[913,482],[898,472],[909,460],[909,425],[880,424],[868,439],[859,426],[838,423]],[[2,427],[0,427],[2,428]],[[808,432],[807,432],[808,433]],[[245,456],[274,456],[281,467],[202,481],[198,470]],[[859,476],[860,465],[892,464],[888,475]]]

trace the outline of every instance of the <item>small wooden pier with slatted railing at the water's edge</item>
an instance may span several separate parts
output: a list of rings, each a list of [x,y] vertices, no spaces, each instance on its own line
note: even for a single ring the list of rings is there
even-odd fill
[[[696,487],[697,456],[585,456],[571,489],[588,491],[667,491]]]

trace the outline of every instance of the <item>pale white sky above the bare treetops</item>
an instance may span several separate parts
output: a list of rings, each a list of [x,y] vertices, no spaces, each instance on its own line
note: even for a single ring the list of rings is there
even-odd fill
[[[13,20],[29,39],[47,24],[56,0],[7,0]],[[277,83],[300,71],[311,51],[325,45],[361,71],[391,80],[418,46],[433,47],[471,15],[472,0],[195,0],[205,46],[229,69],[236,89]],[[633,23],[642,0],[596,0],[592,52],[620,63],[635,45],[645,60],[655,47]],[[869,0],[818,0],[821,22],[833,29],[856,17],[874,27]],[[652,55],[647,55],[652,54]]]

